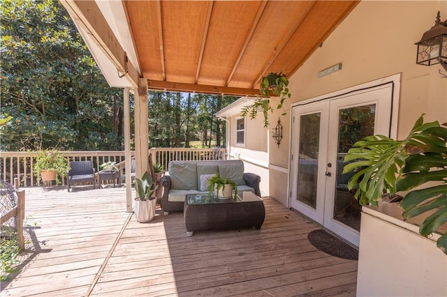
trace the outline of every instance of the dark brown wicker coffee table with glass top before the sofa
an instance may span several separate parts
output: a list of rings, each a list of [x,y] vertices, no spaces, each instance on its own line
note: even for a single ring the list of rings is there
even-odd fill
[[[214,229],[261,229],[265,218],[263,200],[253,192],[240,192],[237,199],[217,199],[207,194],[186,195],[184,200],[186,236],[194,231]]]

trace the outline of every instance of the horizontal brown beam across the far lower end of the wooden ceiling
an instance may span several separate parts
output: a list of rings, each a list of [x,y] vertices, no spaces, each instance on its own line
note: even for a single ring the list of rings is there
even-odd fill
[[[230,96],[259,95],[258,89],[231,88],[228,86],[207,86],[204,84],[186,84],[181,82],[161,82],[158,80],[148,80],[147,89],[156,91],[208,93]]]

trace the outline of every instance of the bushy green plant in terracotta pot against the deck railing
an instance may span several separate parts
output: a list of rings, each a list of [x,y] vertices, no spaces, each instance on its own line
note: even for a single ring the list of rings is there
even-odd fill
[[[59,183],[59,176],[66,176],[70,170],[68,160],[60,151],[42,150],[36,156],[34,163],[34,174],[41,176],[43,182],[56,181]]]

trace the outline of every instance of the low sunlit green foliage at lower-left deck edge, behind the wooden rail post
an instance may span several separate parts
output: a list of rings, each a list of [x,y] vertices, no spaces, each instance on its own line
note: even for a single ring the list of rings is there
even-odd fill
[[[20,248],[17,234],[2,236],[0,238],[0,280],[7,280],[8,274],[14,273],[14,266],[18,263]]]

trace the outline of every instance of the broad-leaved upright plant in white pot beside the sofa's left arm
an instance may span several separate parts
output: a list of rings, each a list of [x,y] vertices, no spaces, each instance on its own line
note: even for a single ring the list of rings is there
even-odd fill
[[[156,197],[152,197],[158,188],[152,180],[152,176],[145,172],[141,178],[135,178],[135,191],[138,197],[135,198],[134,212],[138,222],[149,222],[154,219],[156,208]]]

